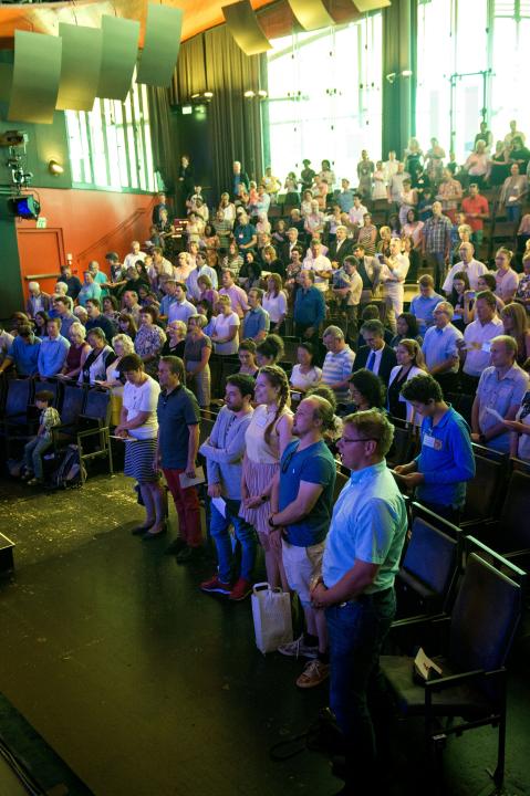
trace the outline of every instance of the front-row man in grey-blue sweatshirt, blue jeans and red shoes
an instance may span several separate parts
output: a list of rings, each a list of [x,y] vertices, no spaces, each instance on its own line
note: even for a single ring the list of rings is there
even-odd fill
[[[246,449],[246,433],[252,418],[254,381],[250,376],[236,374],[227,378],[225,406],[216,418],[208,439],[199,452],[206,458],[210,504],[210,535],[217,549],[218,570],[200,584],[202,591],[228,595],[233,601],[243,600],[252,588],[256,564],[256,532],[239,516],[241,509],[241,473]],[[238,564],[232,551],[229,528],[233,527],[240,545]],[[238,572],[231,585],[233,574]]]

